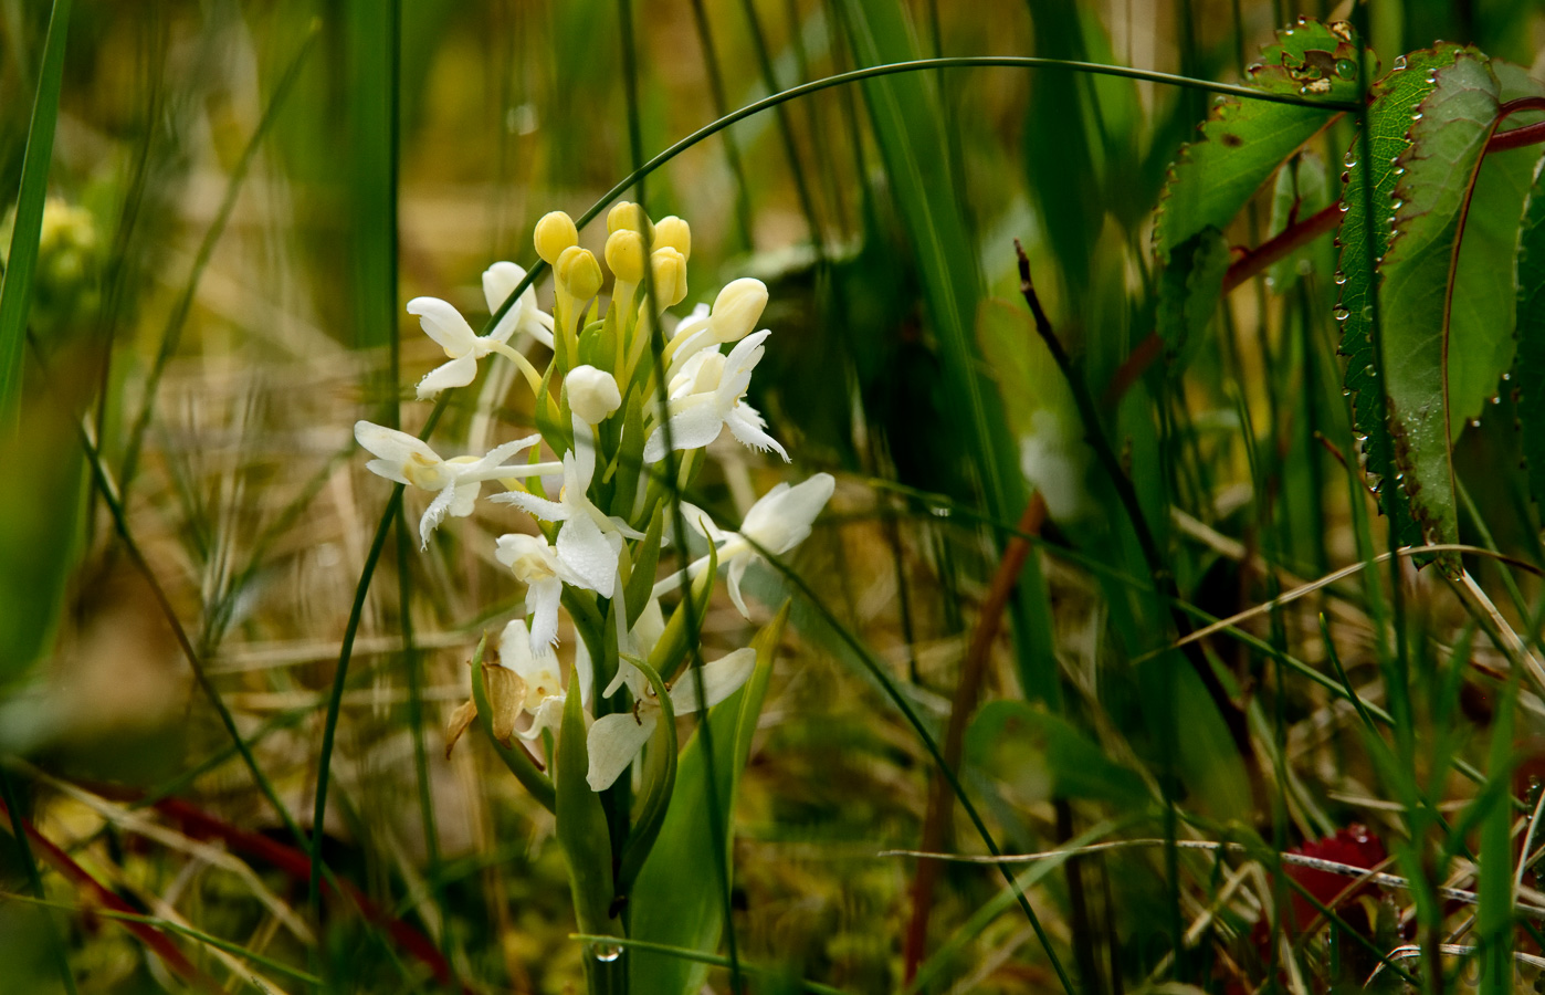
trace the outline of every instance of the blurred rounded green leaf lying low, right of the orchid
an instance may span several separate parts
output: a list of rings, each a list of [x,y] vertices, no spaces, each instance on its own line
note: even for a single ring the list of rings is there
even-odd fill
[[[1126,808],[1151,800],[1143,779],[1098,743],[1027,701],[989,701],[966,732],[966,757],[1015,786],[1026,803],[1092,799]]]

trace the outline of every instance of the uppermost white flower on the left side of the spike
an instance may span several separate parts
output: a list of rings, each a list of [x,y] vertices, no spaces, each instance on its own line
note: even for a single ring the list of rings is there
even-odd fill
[[[516,284],[525,278],[525,270],[514,263],[494,263],[484,272],[484,297],[488,311],[496,312],[504,304]],[[477,360],[497,352],[514,360],[527,380],[541,383],[541,375],[531,362],[510,346],[510,337],[516,332],[527,334],[542,345],[553,345],[553,318],[536,306],[536,292],[527,287],[510,311],[499,320],[487,335],[479,335],[467,323],[462,312],[437,297],[416,297],[408,301],[408,314],[419,315],[419,324],[425,334],[437,341],[450,362],[431,369],[419,382],[419,400],[434,397],[440,391],[453,386],[467,386],[477,375]]]

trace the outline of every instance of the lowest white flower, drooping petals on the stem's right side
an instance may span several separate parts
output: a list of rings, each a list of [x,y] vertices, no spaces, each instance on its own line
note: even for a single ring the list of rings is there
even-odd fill
[[[683,715],[695,712],[698,706],[718,705],[746,683],[756,664],[757,650],[746,647],[712,663],[705,663],[700,669],[689,669],[669,689],[672,711]],[[701,674],[703,681],[701,694],[698,694],[698,674]],[[627,660],[618,660],[616,678],[612,680],[606,694],[610,697],[624,683],[633,692],[633,709],[596,718],[586,737],[586,746],[590,752],[590,771],[586,774],[586,780],[592,791],[604,791],[616,782],[649,742],[664,711],[643,671]]]

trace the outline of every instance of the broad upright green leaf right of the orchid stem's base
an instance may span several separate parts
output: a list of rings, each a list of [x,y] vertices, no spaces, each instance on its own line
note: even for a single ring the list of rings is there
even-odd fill
[[[735,791],[740,771],[751,756],[751,737],[757,729],[768,680],[772,677],[772,658],[786,620],[785,603],[772,621],[751,640],[757,650],[751,678],[740,691],[709,709],[714,791],[718,811],[725,814],[725,825],[718,827],[723,837],[715,837],[715,827],[709,819],[708,763],[701,732],[694,734],[681,751],[675,794],[660,830],[660,840],[649,853],[629,901],[633,939],[689,950],[714,950],[718,946],[729,882],[720,881],[715,859],[723,859],[722,867],[731,865]],[[706,978],[708,967],[703,964],[643,950],[632,955],[630,980],[635,992],[691,995],[703,987]]]

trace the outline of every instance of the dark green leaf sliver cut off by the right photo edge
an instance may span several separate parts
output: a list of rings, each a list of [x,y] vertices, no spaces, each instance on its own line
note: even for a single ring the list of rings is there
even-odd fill
[[[1519,354],[1513,380],[1519,397],[1519,428],[1523,433],[1523,460],[1530,493],[1545,502],[1545,159],[1534,171],[1523,204],[1517,252],[1517,329]]]

